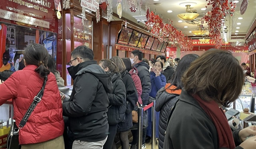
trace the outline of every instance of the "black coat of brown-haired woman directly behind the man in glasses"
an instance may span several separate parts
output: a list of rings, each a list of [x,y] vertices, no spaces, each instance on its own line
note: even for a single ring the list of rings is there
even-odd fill
[[[126,90],[120,73],[112,76],[113,92],[108,93],[108,124],[115,125],[124,120],[126,111]]]

